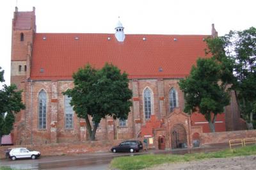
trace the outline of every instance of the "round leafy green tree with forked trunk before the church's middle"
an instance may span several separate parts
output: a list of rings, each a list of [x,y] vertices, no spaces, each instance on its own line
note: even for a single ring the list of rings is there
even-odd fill
[[[127,119],[130,111],[132,91],[128,88],[127,73],[112,64],[96,70],[90,65],[74,73],[74,88],[63,94],[72,97],[70,105],[79,118],[84,118],[91,140],[102,118]],[[93,127],[89,116],[92,116]]]

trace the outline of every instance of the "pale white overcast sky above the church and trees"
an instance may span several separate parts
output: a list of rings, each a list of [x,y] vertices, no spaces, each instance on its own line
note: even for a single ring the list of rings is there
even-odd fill
[[[256,26],[255,0],[0,0],[0,66],[10,84],[12,19],[36,8],[37,33],[115,33],[120,21],[125,34],[219,35]]]

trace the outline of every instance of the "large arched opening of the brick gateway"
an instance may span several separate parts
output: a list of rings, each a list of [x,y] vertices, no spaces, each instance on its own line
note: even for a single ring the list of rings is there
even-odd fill
[[[171,144],[172,148],[187,148],[187,133],[183,125],[176,124],[171,130]]]

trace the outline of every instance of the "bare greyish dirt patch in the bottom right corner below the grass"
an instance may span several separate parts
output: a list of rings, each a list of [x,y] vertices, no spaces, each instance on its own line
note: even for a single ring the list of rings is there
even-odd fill
[[[161,166],[147,168],[147,170],[165,170],[165,169],[256,169],[256,155],[232,158],[211,158],[207,160],[182,162],[175,164],[163,164]]]

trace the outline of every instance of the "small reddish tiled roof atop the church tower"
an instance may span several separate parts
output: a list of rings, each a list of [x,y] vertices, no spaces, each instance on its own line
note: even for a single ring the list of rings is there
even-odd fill
[[[17,12],[14,29],[31,29],[31,19],[33,16],[33,12]]]

